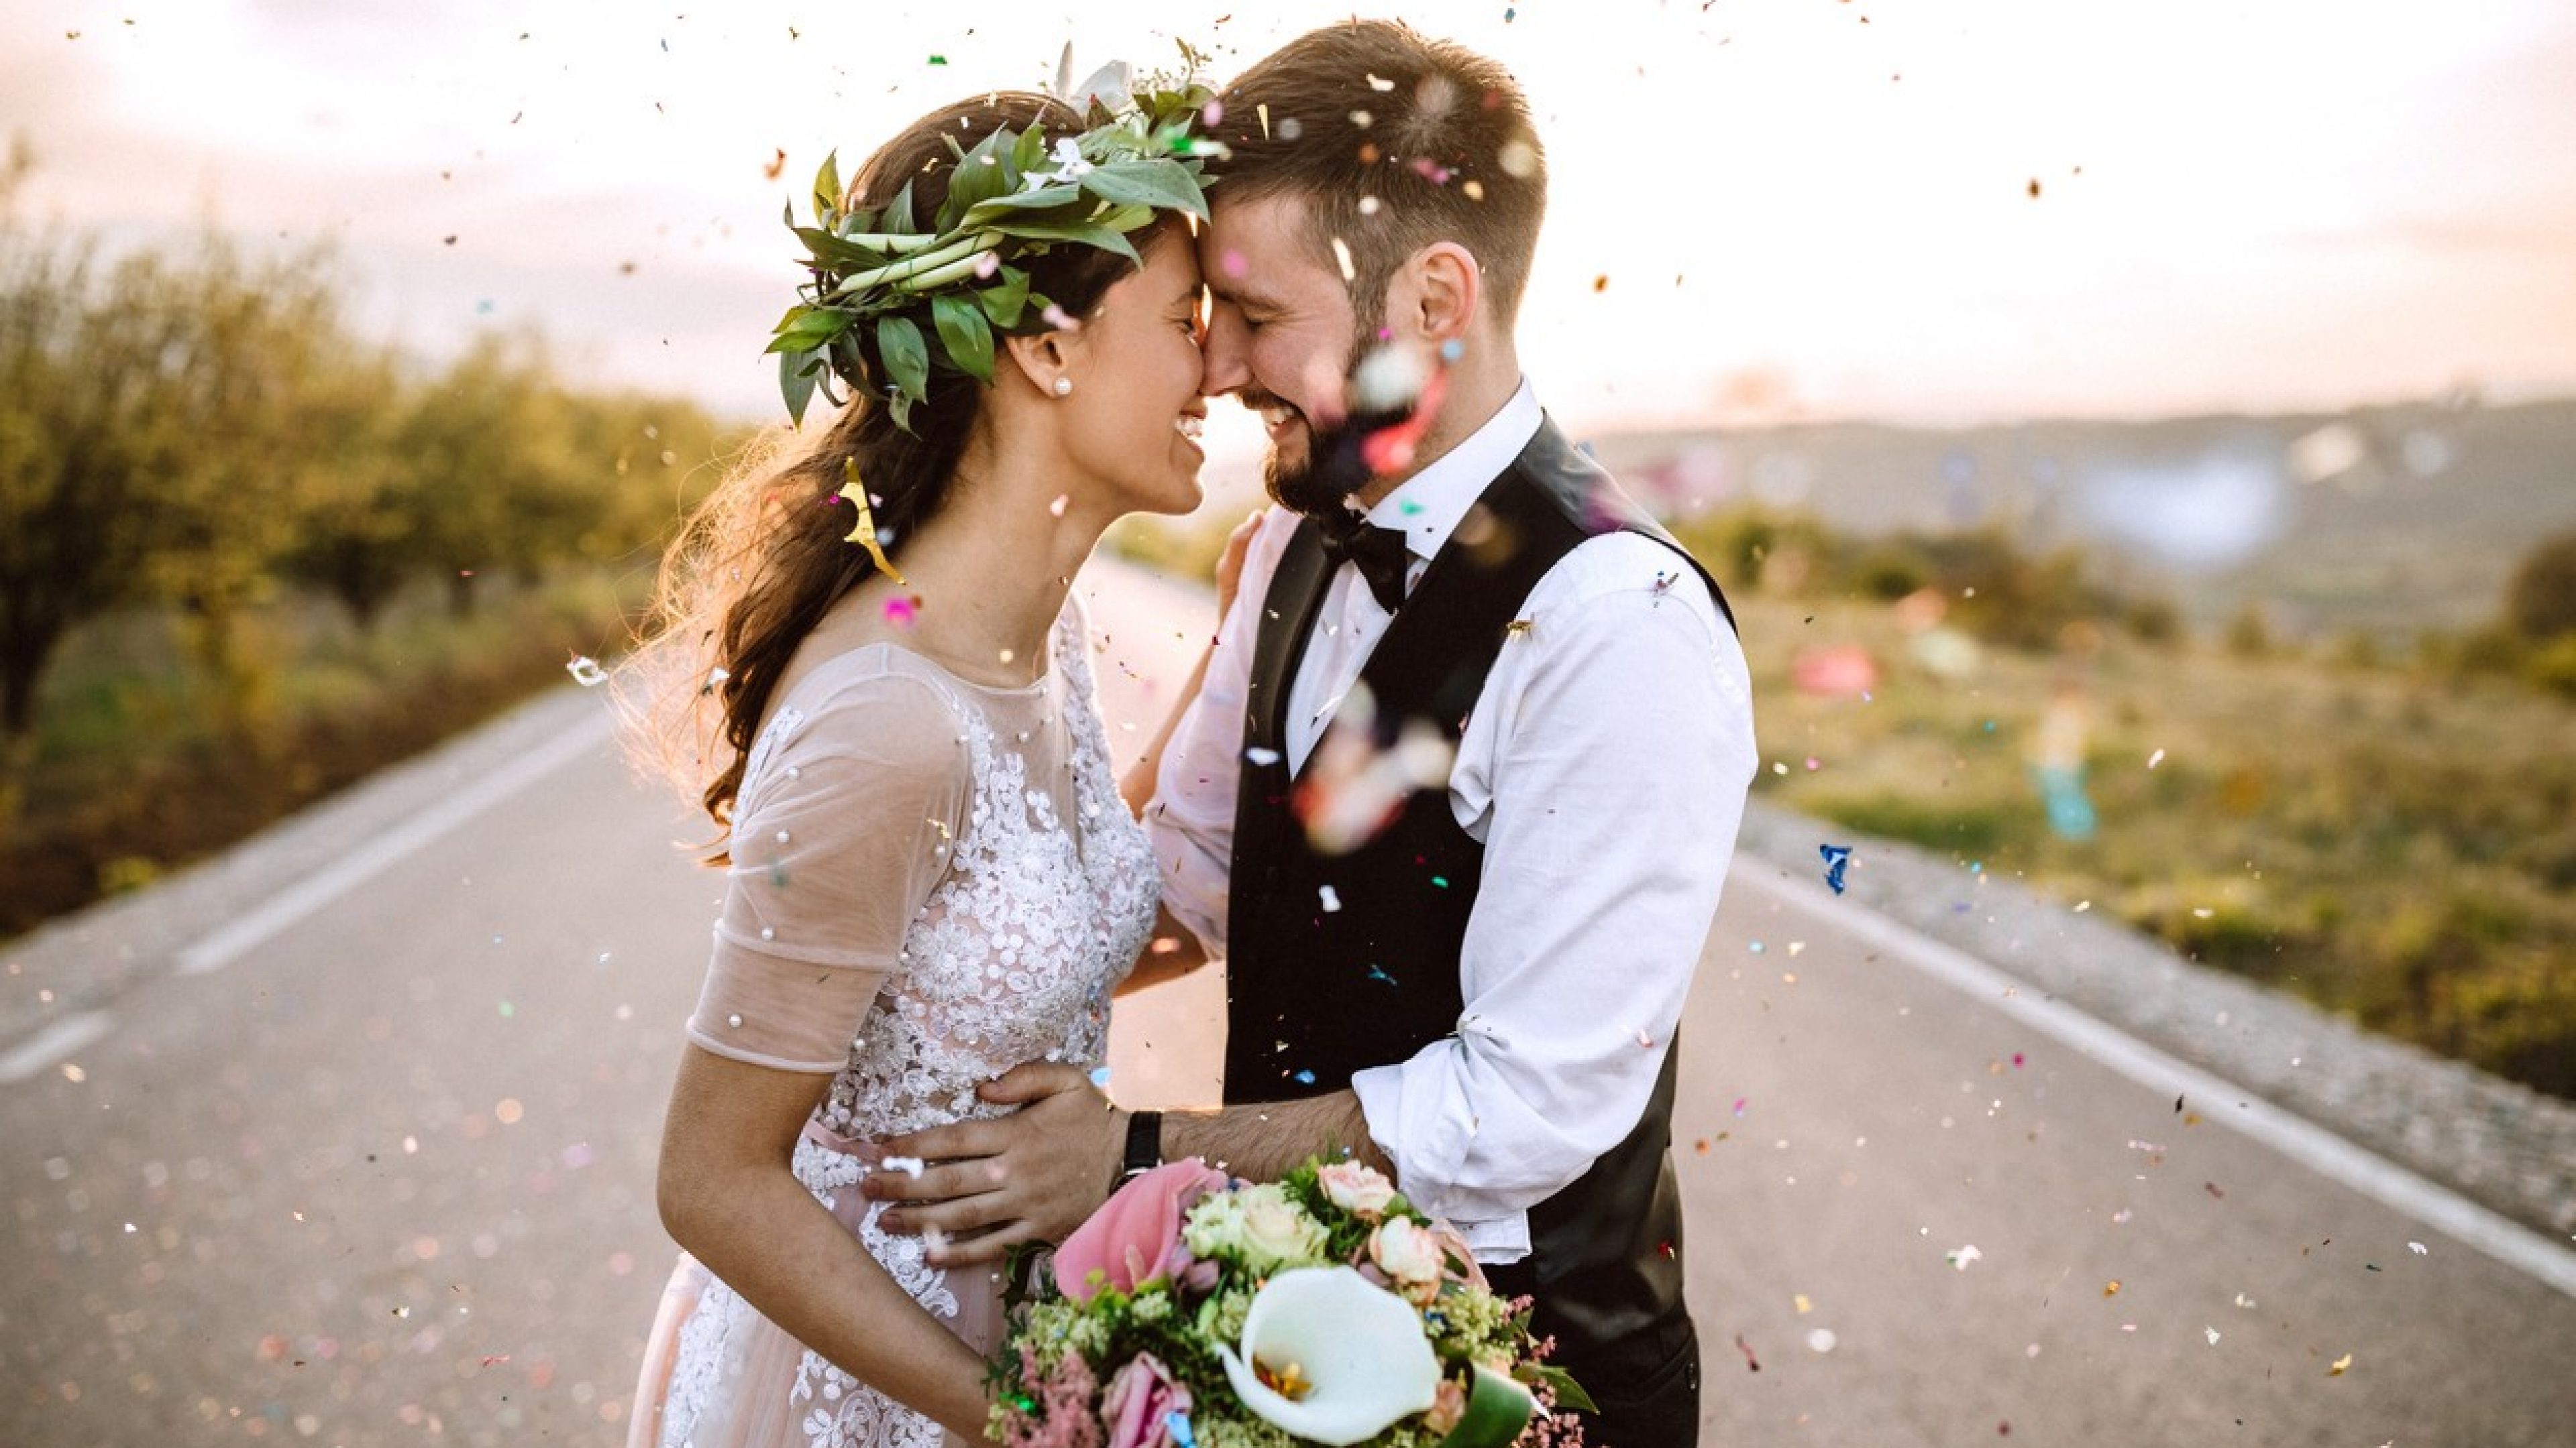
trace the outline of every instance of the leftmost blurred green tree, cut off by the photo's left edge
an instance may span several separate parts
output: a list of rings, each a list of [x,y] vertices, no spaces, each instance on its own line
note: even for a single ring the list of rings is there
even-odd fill
[[[0,198],[0,732],[26,737],[62,634],[170,595],[224,654],[232,608],[291,528],[294,374],[330,330],[309,260],[219,237],[98,258]]]

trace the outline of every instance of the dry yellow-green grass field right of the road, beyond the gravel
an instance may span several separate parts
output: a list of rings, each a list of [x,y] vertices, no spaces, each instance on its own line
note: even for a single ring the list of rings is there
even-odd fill
[[[2092,899],[2213,966],[2576,1095],[2566,701],[2084,626],[2076,647],[1986,647],[1945,680],[1888,605],[1736,605],[1757,788],[1780,804]],[[1803,649],[1852,644],[1880,665],[1870,698],[1795,688]],[[2050,830],[2032,773],[2069,696],[2092,721],[2089,840]]]

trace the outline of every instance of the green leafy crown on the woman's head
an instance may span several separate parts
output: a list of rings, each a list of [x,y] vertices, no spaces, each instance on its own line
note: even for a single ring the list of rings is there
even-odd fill
[[[989,384],[994,332],[1064,325],[1015,260],[1082,245],[1141,265],[1128,232],[1162,211],[1208,216],[1200,157],[1224,147],[1193,137],[1190,121],[1213,90],[1182,77],[1136,95],[1126,64],[1103,67],[1079,90],[1061,75],[1056,93],[1090,129],[1054,147],[1036,124],[1018,134],[994,126],[974,149],[951,137],[956,175],[927,224],[912,209],[909,180],[881,211],[842,211],[837,155],[814,173],[814,224],[799,227],[788,204],[786,224],[806,245],[811,281],[796,289],[768,350],[778,353],[778,392],[793,423],[804,423],[817,386],[840,405],[829,379],[868,389],[860,327],[873,325],[886,405],[909,430],[933,368]]]

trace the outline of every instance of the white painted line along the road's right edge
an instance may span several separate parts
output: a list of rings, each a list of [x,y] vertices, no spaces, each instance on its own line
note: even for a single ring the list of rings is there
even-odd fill
[[[1976,997],[1981,1005],[2012,1015],[2022,1025],[2074,1046],[2084,1056],[2120,1072],[2156,1095],[2192,1095],[2205,1103],[2233,1103],[2233,1110],[2213,1110],[2208,1121],[2233,1126],[2244,1136],[2272,1147],[2282,1157],[2336,1180],[2380,1206],[2403,1211],[2416,1221],[2452,1237],[2488,1257],[2540,1278],[2543,1283],[2576,1296],[2576,1252],[2558,1242],[2488,1211],[2465,1196],[2437,1185],[2406,1167],[2344,1141],[2334,1131],[2293,1116],[2249,1092],[2246,1087],[2215,1077],[2200,1067],[2166,1056],[2164,1051],[2128,1036],[2102,1020],[2084,1015],[2063,1000],[2040,995],[2030,984],[1922,935],[1868,907],[1837,899],[1821,884],[1783,876],[1777,866],[1736,855],[1731,884],[1749,884],[1783,904],[1795,904],[1878,946],[1883,953],[1917,971]]]

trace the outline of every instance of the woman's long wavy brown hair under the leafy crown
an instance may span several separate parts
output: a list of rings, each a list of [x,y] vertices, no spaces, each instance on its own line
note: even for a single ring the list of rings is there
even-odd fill
[[[1030,124],[1046,129],[1048,144],[1082,129],[1072,108],[1046,95],[1002,90],[943,106],[868,157],[842,209],[884,209],[909,180],[914,214],[930,216],[956,173],[951,139],[974,149],[997,126],[1025,131]],[[1164,232],[1170,227],[1146,227],[1131,240],[1149,250]],[[1126,258],[1087,245],[1012,260],[1028,268],[1030,291],[1072,317],[1090,314],[1133,271]],[[1033,312],[1023,330],[1043,325]],[[907,433],[884,405],[886,371],[873,330],[860,330],[860,353],[871,386],[853,389],[819,435],[773,428],[690,513],[662,554],[639,647],[618,670],[631,752],[683,794],[696,794],[716,824],[732,824],[742,765],[796,647],[876,567],[863,546],[845,541],[853,526],[840,502],[848,464],[858,464],[886,554],[899,559],[912,533],[948,502],[984,410],[984,384],[933,374]]]

